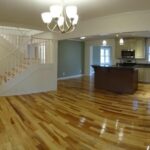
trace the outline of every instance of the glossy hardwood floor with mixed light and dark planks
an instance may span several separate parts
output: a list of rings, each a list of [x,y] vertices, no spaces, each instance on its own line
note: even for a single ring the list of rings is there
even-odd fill
[[[150,85],[121,95],[82,77],[59,81],[57,92],[0,98],[0,150],[64,149],[150,150]]]

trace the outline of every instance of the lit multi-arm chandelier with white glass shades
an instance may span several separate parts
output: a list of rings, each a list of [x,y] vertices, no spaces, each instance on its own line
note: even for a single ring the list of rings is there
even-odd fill
[[[41,14],[42,20],[47,24],[48,30],[52,32],[72,32],[77,23],[77,7],[74,5],[63,7],[63,5],[50,6],[49,12]]]

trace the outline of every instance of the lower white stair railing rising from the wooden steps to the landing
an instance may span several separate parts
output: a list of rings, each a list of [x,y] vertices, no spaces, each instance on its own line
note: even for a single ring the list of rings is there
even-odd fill
[[[46,44],[43,43],[43,41],[42,44],[36,43],[35,46],[35,40],[33,40],[33,49],[30,50],[27,47],[27,49],[22,51],[17,48],[0,59],[0,84],[4,84],[14,78],[17,74],[27,69],[29,65],[46,64]],[[31,52],[32,54],[30,54]]]

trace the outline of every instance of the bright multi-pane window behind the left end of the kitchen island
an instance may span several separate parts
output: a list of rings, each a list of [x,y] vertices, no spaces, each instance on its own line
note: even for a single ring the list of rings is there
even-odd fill
[[[111,48],[101,47],[100,48],[100,65],[110,65],[111,64]]]

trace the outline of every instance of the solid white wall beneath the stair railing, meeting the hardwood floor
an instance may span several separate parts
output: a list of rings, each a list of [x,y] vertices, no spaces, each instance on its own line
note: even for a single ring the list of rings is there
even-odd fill
[[[34,64],[0,86],[0,96],[22,95],[56,90],[52,64]],[[54,86],[55,85],[55,86]]]

